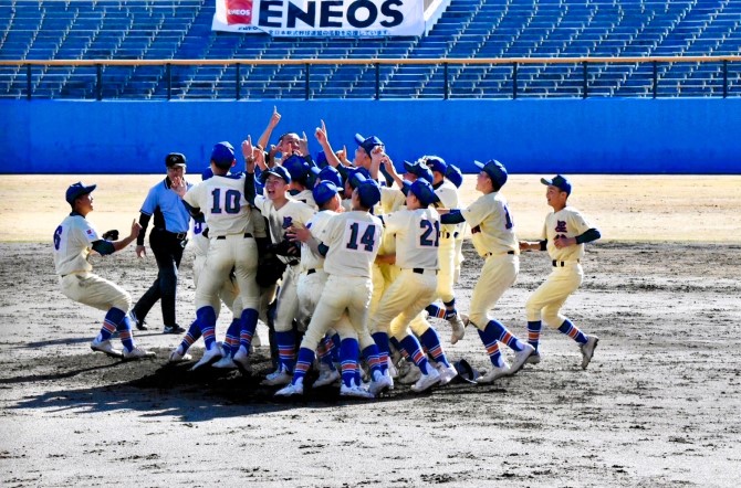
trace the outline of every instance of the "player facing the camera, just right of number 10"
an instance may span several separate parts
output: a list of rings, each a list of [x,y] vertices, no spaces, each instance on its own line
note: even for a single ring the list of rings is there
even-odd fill
[[[286,265],[281,277],[275,309],[274,328],[279,364],[274,372],[268,374],[263,384],[283,385],[291,381],[295,363],[295,335],[292,322],[299,311],[296,279],[300,273],[300,248],[288,241],[285,232],[293,224],[305,225],[314,216],[315,211],[307,204],[289,198],[288,187],[291,176],[284,167],[270,168],[260,177],[265,185],[265,195],[257,195],[254,206],[268,219],[273,250]]]

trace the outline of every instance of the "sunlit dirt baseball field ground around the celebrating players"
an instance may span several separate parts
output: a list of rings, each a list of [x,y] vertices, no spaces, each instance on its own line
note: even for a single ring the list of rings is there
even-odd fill
[[[126,229],[158,177],[34,178],[0,183],[2,486],[738,485],[739,177],[574,177],[574,204],[605,235],[588,246],[584,285],[564,309],[601,337],[589,368],[578,367],[573,341],[545,330],[543,361],[515,376],[425,395],[398,385],[372,402],[332,389],[275,401],[259,385],[270,368],[267,348],[248,376],[168,365],[179,338],[159,333],[157,308],[153,329],[136,333],[156,359],[122,363],[93,353],[102,312],[66,299],[53,272],[48,236],[66,212],[61,195],[79,179],[98,182],[91,220],[100,230]],[[544,188],[532,176],[511,183],[518,229],[535,237],[547,211]],[[32,185],[43,187],[41,208],[27,202]],[[13,220],[20,227],[9,226]],[[481,266],[468,244],[466,255],[463,311]],[[133,247],[94,266],[135,299],[156,275],[154,258],[137,259]],[[524,254],[518,283],[494,311],[520,337],[524,301],[549,272],[544,253]],[[181,277],[178,318],[187,323],[190,254]],[[450,328],[435,325],[451,359],[487,368],[473,329],[450,346]],[[264,326],[259,335],[267,343]]]

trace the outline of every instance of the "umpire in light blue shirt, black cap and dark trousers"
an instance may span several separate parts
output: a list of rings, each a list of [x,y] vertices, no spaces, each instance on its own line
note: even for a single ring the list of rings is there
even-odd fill
[[[185,181],[186,159],[179,152],[170,152],[165,159],[167,177],[155,184],[142,204],[139,224],[142,232],[136,240],[136,255],[146,255],[144,236],[154,216],[154,226],[149,233],[149,247],[157,259],[157,279],[139,298],[132,309],[132,318],[137,329],[146,330],[144,319],[152,307],[161,299],[163,333],[182,333],[185,329],[175,318],[175,299],[178,285],[178,267],[188,235],[190,214],[182,202],[182,195],[192,187]]]

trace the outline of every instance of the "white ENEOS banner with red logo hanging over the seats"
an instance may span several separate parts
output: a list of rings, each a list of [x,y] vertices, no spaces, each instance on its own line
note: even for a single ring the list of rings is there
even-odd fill
[[[283,38],[421,35],[424,9],[424,0],[216,0],[212,30]]]

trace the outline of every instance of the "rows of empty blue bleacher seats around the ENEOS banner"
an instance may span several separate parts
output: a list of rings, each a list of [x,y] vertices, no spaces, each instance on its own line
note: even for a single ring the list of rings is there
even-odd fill
[[[211,31],[205,0],[6,0],[0,60],[373,60],[741,54],[741,1],[452,0],[428,35],[280,39]],[[450,64],[450,98],[741,95],[740,63]],[[656,86],[654,85],[656,70]],[[432,64],[0,66],[0,97],[440,98]],[[168,76],[169,73],[169,76]],[[306,76],[309,74],[309,86]],[[515,83],[516,77],[516,84]],[[724,77],[727,79],[724,79]],[[239,88],[239,91],[238,91]],[[309,88],[309,89],[307,89]],[[516,88],[516,89],[515,89]]]

